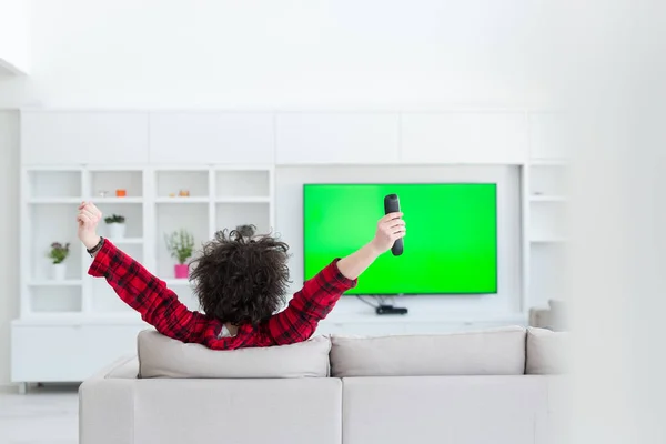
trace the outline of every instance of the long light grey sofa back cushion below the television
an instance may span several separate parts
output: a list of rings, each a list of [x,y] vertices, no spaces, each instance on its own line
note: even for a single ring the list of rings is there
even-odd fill
[[[525,372],[525,329],[375,337],[332,336],[336,377],[518,375]]]

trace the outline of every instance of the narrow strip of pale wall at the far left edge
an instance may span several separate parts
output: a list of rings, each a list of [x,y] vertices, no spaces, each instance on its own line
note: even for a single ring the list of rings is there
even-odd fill
[[[9,327],[19,314],[19,113],[0,111],[0,386],[9,382]]]

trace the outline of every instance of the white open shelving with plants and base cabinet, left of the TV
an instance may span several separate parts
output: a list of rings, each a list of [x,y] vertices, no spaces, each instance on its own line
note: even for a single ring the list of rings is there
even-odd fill
[[[199,310],[189,281],[174,279],[176,261],[164,235],[188,230],[198,249],[218,230],[240,224],[270,231],[275,224],[273,180],[272,165],[24,167],[21,245],[28,253],[21,256],[12,380],[81,381],[104,362],[132,352],[128,347],[135,334],[149,326],[105,280],[88,275],[92,260],[77,239],[75,214],[82,201],[94,202],[104,216],[123,215],[125,236],[110,236],[104,221],[99,234]],[[115,190],[125,195],[117,196]],[[182,191],[190,195],[179,195]],[[52,242],[70,243],[64,280],[56,280],[51,271],[47,254]],[[75,371],[65,369],[68,362],[75,363]]]

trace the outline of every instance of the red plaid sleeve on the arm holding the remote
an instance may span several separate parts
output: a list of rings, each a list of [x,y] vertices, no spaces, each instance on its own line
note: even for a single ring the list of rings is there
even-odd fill
[[[356,286],[357,280],[345,278],[337,269],[337,261],[340,259],[306,281],[287,307],[266,321],[264,331],[272,343],[283,345],[307,340],[340,296]]]

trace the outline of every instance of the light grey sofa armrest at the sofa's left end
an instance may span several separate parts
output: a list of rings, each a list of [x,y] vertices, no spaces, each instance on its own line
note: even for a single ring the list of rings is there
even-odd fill
[[[80,444],[134,444],[137,380],[113,376],[133,359],[113,362],[79,386]]]

